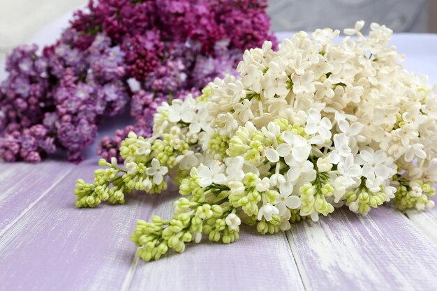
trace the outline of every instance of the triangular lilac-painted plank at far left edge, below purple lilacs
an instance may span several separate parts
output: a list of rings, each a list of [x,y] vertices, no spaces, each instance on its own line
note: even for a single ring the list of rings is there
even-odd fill
[[[73,170],[66,162],[6,163],[0,169],[0,235]]]

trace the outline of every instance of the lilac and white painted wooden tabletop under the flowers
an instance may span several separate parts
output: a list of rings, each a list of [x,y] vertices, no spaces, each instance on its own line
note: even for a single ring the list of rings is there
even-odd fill
[[[437,35],[394,43],[407,68],[437,80]],[[93,179],[93,150],[80,165],[0,163],[0,290],[437,290],[437,209],[380,207],[365,217],[339,209],[285,234],[243,227],[234,244],[203,241],[142,262],[129,241],[135,221],[170,216],[175,189],[76,209],[75,181]]]

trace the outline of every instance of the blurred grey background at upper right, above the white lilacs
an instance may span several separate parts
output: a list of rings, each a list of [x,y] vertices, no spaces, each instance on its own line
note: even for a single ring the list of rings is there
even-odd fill
[[[269,0],[268,11],[275,31],[342,30],[365,20],[395,32],[437,32],[436,5],[436,0]]]

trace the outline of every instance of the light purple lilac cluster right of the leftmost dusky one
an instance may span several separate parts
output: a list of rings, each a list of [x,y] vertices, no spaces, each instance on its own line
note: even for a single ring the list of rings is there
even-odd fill
[[[73,40],[75,33],[67,30],[63,39]],[[56,110],[45,114],[43,124],[57,132],[59,145],[68,150],[68,161],[79,162],[82,149],[94,142],[101,119],[120,114],[130,91],[124,52],[111,46],[108,36],[99,33],[84,51],[68,43],[44,51],[52,65],[50,73],[59,82],[53,87]]]

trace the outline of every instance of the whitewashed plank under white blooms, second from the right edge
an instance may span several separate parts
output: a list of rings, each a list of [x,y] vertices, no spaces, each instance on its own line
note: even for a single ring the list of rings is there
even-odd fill
[[[307,290],[437,290],[437,246],[395,209],[339,209],[287,235]]]

